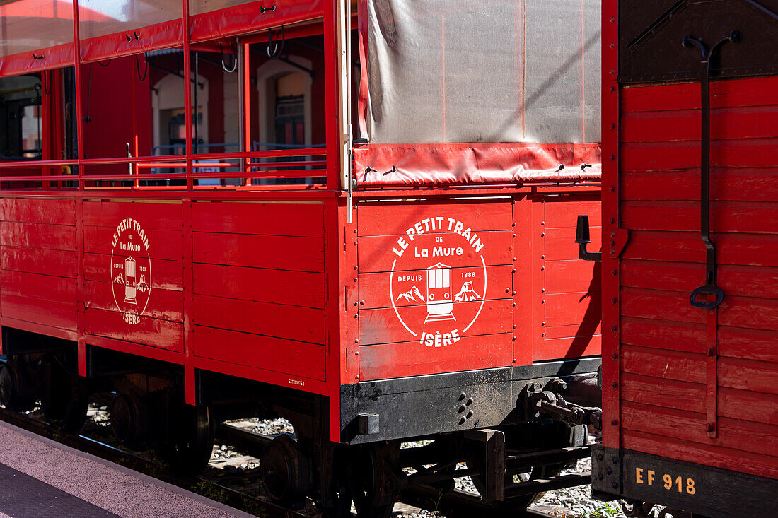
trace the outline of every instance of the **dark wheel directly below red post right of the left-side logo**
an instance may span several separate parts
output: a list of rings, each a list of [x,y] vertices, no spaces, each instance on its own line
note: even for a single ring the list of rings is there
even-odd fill
[[[182,404],[170,412],[167,459],[181,474],[200,473],[213,453],[215,422],[208,407]]]

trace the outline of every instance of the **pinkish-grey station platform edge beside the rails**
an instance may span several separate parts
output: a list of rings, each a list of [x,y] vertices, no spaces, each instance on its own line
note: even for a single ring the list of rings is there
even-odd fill
[[[0,422],[0,518],[252,515]]]

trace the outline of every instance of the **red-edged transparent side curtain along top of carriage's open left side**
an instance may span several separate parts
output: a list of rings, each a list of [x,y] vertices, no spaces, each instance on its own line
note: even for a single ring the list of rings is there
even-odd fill
[[[191,40],[202,42],[323,16],[321,0],[192,0]],[[182,0],[81,0],[82,61],[180,47]],[[72,65],[73,4],[64,0],[0,0],[0,77]],[[36,58],[33,58],[33,53]]]

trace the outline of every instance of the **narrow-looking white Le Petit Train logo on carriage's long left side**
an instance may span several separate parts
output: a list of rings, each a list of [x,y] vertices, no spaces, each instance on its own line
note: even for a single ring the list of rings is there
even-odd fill
[[[114,230],[110,252],[114,303],[128,324],[138,324],[149,305],[151,255],[149,236],[135,219],[122,219]]]

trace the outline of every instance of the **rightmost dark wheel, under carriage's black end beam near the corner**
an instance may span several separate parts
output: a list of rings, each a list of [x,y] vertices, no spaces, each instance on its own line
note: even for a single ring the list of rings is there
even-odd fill
[[[381,444],[342,450],[336,459],[337,494],[335,506],[326,516],[352,516],[352,505],[358,518],[387,518],[398,495],[394,475],[396,446]]]

